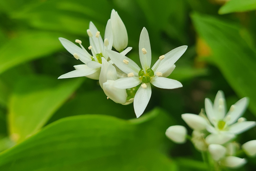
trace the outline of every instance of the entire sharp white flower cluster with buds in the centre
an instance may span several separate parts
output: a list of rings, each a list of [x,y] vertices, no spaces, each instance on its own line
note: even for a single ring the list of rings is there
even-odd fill
[[[159,88],[180,88],[179,81],[166,78],[173,72],[174,63],[183,55],[187,46],[180,46],[165,55],[161,55],[151,67],[151,47],[148,31],[143,28],[139,38],[139,67],[132,59],[125,55],[132,50],[128,45],[128,35],[124,23],[118,13],[113,9],[107,22],[104,39],[90,22],[87,29],[91,54],[82,46],[81,40],[76,43],[59,38],[61,44],[76,59],[84,64],[74,66],[75,70],[63,74],[59,79],[71,77],[88,77],[99,80],[107,99],[123,105],[134,102],[137,118],[143,114],[151,97],[151,85]],[[112,51],[112,46],[117,51]],[[126,49],[125,49],[126,48]]]

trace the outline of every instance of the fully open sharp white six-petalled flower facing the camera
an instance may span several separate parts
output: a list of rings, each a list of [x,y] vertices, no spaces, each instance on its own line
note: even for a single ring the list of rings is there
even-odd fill
[[[183,55],[186,49],[187,46],[180,46],[165,55],[161,55],[151,68],[150,41],[147,29],[143,28],[139,38],[139,58],[142,69],[125,55],[107,50],[111,61],[127,74],[127,77],[117,79],[115,86],[117,88],[133,88],[141,84],[134,97],[134,110],[137,118],[143,114],[151,97],[150,83],[165,89],[182,87],[179,81],[165,77],[171,74],[175,68],[174,63]]]

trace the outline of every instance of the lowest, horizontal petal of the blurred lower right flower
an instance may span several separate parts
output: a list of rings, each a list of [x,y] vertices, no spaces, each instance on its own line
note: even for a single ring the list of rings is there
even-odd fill
[[[219,134],[210,134],[205,138],[206,143],[208,144],[224,144],[235,138],[234,134],[229,132],[221,132]]]

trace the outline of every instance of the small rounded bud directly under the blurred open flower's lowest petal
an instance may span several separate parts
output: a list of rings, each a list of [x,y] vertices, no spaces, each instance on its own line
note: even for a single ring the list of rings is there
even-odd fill
[[[210,152],[213,160],[219,161],[225,156],[226,148],[219,144],[210,144],[208,146],[208,151]]]

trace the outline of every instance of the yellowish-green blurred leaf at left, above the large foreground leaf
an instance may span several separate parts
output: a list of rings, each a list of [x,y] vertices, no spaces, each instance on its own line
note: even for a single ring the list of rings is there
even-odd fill
[[[10,97],[11,137],[22,142],[41,129],[82,81],[83,78],[58,80],[40,75],[21,79]]]

